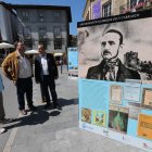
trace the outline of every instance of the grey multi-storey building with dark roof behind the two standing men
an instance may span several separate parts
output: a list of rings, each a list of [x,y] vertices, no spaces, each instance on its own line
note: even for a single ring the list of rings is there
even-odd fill
[[[27,49],[42,43],[49,53],[65,53],[68,46],[69,7],[14,4],[17,14],[17,34]]]

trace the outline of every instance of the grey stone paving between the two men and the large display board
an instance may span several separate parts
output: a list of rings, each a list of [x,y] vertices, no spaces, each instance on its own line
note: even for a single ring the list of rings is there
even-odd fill
[[[77,80],[64,67],[56,80],[62,111],[43,110],[39,85],[34,86],[38,111],[18,115],[4,152],[143,152],[137,148],[78,128]]]

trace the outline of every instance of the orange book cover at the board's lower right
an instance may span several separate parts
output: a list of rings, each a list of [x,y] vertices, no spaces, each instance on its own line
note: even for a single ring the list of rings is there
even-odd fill
[[[139,114],[137,135],[142,138],[152,139],[152,115]]]

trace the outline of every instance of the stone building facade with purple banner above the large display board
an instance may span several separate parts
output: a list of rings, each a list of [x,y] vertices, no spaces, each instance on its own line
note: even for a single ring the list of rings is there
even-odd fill
[[[152,9],[152,0],[87,0],[84,21]]]

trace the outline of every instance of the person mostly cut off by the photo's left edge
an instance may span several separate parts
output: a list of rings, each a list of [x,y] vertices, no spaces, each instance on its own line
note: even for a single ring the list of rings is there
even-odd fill
[[[2,90],[4,89],[3,83],[2,83],[2,77],[0,75],[0,125],[2,124],[8,124],[12,122],[12,118],[5,118],[5,113],[3,109],[3,98],[2,98]],[[5,128],[0,128],[0,134],[5,132]]]

